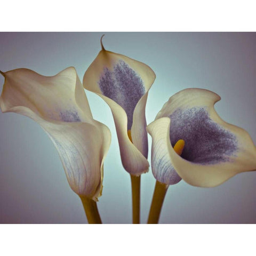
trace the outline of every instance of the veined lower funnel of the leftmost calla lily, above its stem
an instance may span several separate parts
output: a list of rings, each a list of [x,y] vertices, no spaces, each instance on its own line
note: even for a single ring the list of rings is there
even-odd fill
[[[103,162],[110,146],[107,126],[90,123],[40,123],[57,148],[68,183],[78,195],[98,200]]]

